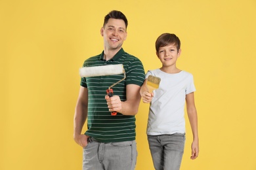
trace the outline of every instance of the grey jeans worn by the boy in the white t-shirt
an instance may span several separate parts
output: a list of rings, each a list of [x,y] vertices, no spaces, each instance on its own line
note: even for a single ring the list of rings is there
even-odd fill
[[[184,153],[185,134],[148,135],[148,144],[156,170],[179,170]]]

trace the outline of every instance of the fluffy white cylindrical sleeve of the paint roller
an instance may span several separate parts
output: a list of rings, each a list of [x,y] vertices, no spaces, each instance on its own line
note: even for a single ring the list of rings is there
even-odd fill
[[[123,64],[81,67],[79,74],[81,77],[120,75],[123,74]]]

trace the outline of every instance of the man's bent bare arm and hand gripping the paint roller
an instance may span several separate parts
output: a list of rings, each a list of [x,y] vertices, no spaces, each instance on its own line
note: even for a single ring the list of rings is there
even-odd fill
[[[126,86],[126,101],[121,101],[118,95],[105,96],[110,112],[116,111],[123,115],[135,115],[139,110],[140,86],[128,84]]]

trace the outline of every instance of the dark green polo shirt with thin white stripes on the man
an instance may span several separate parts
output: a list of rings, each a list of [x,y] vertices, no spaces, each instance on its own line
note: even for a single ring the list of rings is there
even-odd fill
[[[123,48],[110,60],[104,60],[104,52],[86,59],[83,67],[123,64],[126,78],[112,87],[114,95],[121,101],[126,100],[126,86],[137,84],[142,86],[145,78],[142,62],[135,56],[127,54]],[[121,75],[93,76],[81,78],[80,85],[88,89],[88,115],[86,135],[94,137],[102,143],[135,140],[135,116],[125,116],[117,112],[112,116],[108,110],[105,95],[109,86],[123,78]]]

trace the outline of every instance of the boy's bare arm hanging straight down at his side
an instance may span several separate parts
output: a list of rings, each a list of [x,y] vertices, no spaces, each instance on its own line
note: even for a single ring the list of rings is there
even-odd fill
[[[188,113],[188,119],[193,133],[193,142],[191,146],[192,156],[190,159],[194,160],[198,157],[199,153],[198,115],[194,103],[194,92],[186,95],[186,111]]]

